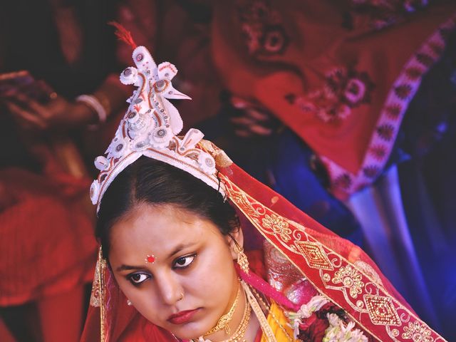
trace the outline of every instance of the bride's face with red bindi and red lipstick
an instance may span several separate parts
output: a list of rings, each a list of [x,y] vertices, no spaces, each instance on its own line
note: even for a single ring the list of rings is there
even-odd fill
[[[142,316],[179,338],[209,331],[236,297],[231,238],[192,212],[142,204],[113,225],[110,239],[120,289]]]

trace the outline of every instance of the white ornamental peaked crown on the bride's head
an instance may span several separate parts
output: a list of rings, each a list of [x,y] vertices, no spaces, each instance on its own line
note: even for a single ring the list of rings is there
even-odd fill
[[[106,156],[95,158],[100,175],[90,186],[92,203],[97,204],[98,210],[110,183],[142,155],[190,172],[224,195],[219,187],[214,158],[197,146],[204,135],[192,128],[185,137],[177,137],[182,130],[182,118],[167,98],[190,99],[172,86],[177,68],[168,62],[157,66],[144,46],[135,48],[133,61],[136,68],[126,68],[120,74],[120,81],[138,89],[127,100],[130,105]]]

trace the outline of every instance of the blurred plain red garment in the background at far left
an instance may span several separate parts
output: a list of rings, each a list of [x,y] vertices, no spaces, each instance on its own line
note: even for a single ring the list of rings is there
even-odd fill
[[[45,159],[41,175],[18,167],[0,170],[0,199],[8,200],[0,203],[0,306],[56,296],[92,281],[97,244],[81,202],[88,181]]]

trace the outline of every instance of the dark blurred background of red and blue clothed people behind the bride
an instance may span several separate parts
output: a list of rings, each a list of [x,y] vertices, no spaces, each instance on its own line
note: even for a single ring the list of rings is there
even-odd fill
[[[0,5],[0,341],[78,341],[88,188],[133,88],[131,31],[239,166],[363,247],[456,340],[456,3],[15,0]]]

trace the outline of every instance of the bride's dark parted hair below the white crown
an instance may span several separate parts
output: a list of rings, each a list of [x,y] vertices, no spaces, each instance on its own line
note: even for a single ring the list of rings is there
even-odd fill
[[[239,227],[234,208],[201,180],[149,157],[140,157],[110,184],[100,203],[95,235],[108,257],[110,228],[138,204],[173,204],[209,219],[224,235]]]

